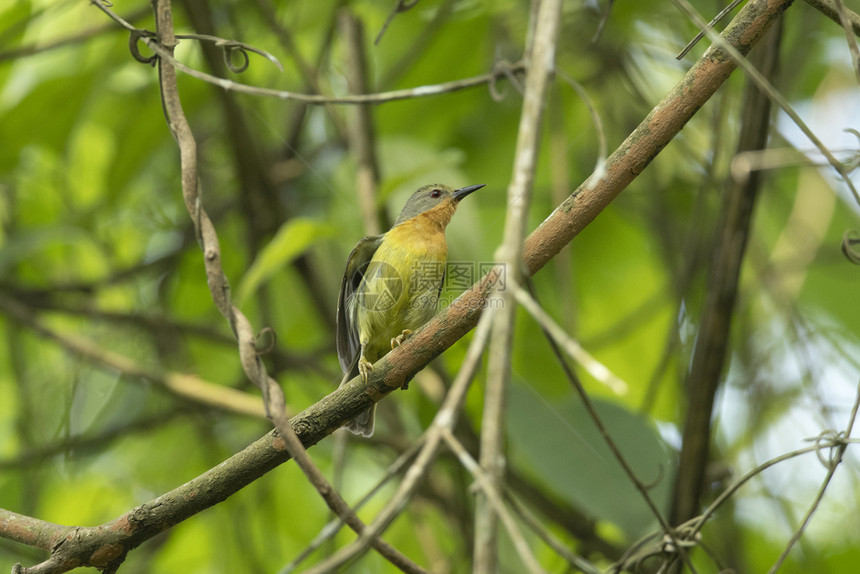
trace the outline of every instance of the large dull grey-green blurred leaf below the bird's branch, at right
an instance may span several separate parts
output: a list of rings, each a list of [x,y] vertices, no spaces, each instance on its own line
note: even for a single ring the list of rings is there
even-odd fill
[[[510,389],[511,446],[523,465],[553,491],[629,537],[643,533],[654,515],[609,450],[579,398],[548,403],[534,390]],[[656,430],[623,407],[592,399],[603,425],[648,494],[665,512],[674,461]]]

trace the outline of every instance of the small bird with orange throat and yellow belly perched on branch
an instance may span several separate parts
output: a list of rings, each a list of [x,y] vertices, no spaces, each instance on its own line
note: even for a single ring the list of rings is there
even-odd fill
[[[438,183],[413,193],[394,225],[363,237],[346,261],[337,302],[340,386],[361,375],[436,313],[445,279],[445,228],[460,201],[486,184],[453,189]],[[344,427],[373,436],[376,404]]]

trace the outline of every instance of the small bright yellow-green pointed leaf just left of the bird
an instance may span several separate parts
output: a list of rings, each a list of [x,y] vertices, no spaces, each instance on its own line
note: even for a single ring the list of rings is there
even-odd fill
[[[261,283],[304,253],[314,242],[331,234],[331,226],[307,217],[286,222],[251,263],[236,290],[236,302],[241,305],[247,301]]]

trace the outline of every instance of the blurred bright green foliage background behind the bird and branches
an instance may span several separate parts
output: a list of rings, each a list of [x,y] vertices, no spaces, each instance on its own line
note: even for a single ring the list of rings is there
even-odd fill
[[[706,15],[720,7],[694,4]],[[523,2],[422,2],[398,14],[378,45],[372,40],[392,3],[281,2],[273,6],[277,25],[265,16],[268,5],[187,0],[175,6],[176,27],[250,43],[278,57],[283,72],[252,55],[247,72],[230,74],[188,40],[177,57],[246,84],[308,92],[298,53],[323,92],[344,95],[349,64],[336,24],[342,10],[364,25],[374,91],[483,74],[494,62],[519,59],[528,32]],[[588,108],[561,76],[585,88],[611,150],[707,45],[674,59],[696,29],[669,2],[616,3],[593,43],[605,8],[597,2],[564,8],[532,228],[600,159]],[[146,2],[117,2],[114,9],[138,27],[154,28]],[[177,397],[151,378],[106,368],[46,337],[34,322],[10,316],[5,305],[14,303],[57,336],[89,341],[148,371],[193,373],[257,392],[206,286],[155,70],[134,61],[127,34],[80,0],[14,0],[0,8],[0,22],[0,298],[6,301],[0,506],[61,524],[97,525],[216,465],[270,427]],[[295,52],[279,36],[283,30]],[[354,109],[225,93],[183,75],[179,82],[234,296],[256,327],[277,334],[267,366],[298,412],[340,378],[335,301],[346,256],[366,233],[355,155],[338,128],[352,121]],[[616,395],[582,374],[604,423],[664,508],[743,83],[735,73],[535,278],[550,314],[628,382],[629,391]],[[776,85],[831,149],[844,150],[840,157],[857,149],[857,138],[842,131],[857,128],[860,117],[845,34],[804,3],[785,15]],[[482,86],[372,108],[378,201],[389,221],[424,183],[487,184],[449,227],[454,261],[491,262],[502,237],[521,98],[510,82],[495,89],[499,99]],[[822,430],[844,428],[858,379],[860,283],[857,267],[840,252],[843,233],[860,223],[858,205],[831,171],[810,165],[821,158],[787,118],[779,114],[773,125],[769,145],[790,161],[767,172],[755,211],[730,364],[714,414],[709,498]],[[449,285],[446,297],[460,290]],[[314,447],[315,462],[348,501],[370,489],[432,419],[470,337],[408,392],[381,403],[373,439],[337,436]],[[607,567],[619,550],[654,529],[653,516],[524,312],[514,349],[511,488],[555,535]],[[459,428],[466,437],[477,436],[482,389],[479,379]],[[848,572],[857,564],[856,471],[849,448],[781,571]],[[762,473],[722,507],[705,541],[723,564],[766,571],[824,474],[814,454]],[[470,483],[453,458],[443,457],[386,539],[434,572],[467,571]],[[383,489],[361,515],[370,519],[391,492]],[[287,464],[144,544],[123,571],[277,572],[328,520],[313,488]],[[335,543],[351,539],[342,532]],[[565,571],[559,556],[530,540],[544,567]],[[502,549],[506,571],[516,571],[513,550]],[[707,553],[693,557],[699,571],[718,570]],[[7,568],[43,558],[0,541]],[[369,554],[351,571],[389,568]]]

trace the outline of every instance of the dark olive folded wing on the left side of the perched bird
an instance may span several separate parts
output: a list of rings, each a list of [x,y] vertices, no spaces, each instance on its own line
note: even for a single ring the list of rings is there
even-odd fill
[[[337,358],[344,373],[352,370],[359,351],[358,329],[348,313],[349,299],[361,284],[364,271],[382,243],[382,235],[369,235],[359,241],[346,260],[346,270],[337,298]]]

